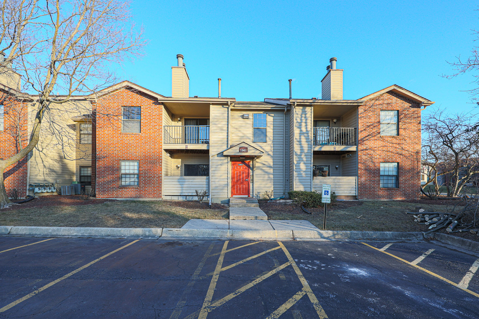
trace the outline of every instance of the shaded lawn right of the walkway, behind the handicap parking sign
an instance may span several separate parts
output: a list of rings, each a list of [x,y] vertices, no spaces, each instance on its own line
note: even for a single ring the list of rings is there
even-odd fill
[[[447,207],[446,205],[423,205],[414,201],[338,201],[328,205],[326,229],[330,231],[426,231],[426,225],[418,224],[412,215],[405,213],[406,210],[414,211],[414,206],[439,212],[445,211]],[[270,220],[309,220],[319,229],[323,228],[323,208],[308,209],[313,214],[303,212],[301,207],[295,204],[261,202],[260,208]]]

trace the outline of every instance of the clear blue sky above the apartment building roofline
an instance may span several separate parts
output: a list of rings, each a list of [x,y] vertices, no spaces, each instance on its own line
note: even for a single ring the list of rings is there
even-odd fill
[[[387,3],[387,4],[385,4]],[[125,79],[171,95],[171,66],[184,55],[190,96],[262,101],[321,97],[329,58],[344,69],[344,99],[398,84],[448,111],[478,111],[473,74],[446,79],[446,61],[467,57],[479,28],[477,1],[140,1],[146,55]],[[478,44],[478,43],[476,43]]]

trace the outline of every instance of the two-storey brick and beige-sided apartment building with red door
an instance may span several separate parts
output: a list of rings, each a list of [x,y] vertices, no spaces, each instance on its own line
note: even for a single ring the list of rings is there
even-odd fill
[[[78,158],[66,163],[60,146],[46,154],[39,145],[27,165],[6,171],[7,188],[33,195],[42,180],[80,181],[99,198],[189,200],[206,190],[212,202],[225,203],[331,184],[340,199],[419,198],[421,110],[434,102],[397,85],[343,99],[336,58],[321,81],[321,99],[190,97],[182,55],[177,59],[171,97],[128,81],[75,97],[90,110],[65,119],[82,147]],[[8,89],[0,88],[4,99]],[[9,110],[5,102],[3,113]],[[14,152],[5,146],[6,119],[0,158]]]

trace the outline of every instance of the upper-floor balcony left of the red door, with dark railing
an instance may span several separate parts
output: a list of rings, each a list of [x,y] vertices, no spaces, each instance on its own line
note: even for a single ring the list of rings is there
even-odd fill
[[[165,125],[163,148],[208,149],[209,125]]]

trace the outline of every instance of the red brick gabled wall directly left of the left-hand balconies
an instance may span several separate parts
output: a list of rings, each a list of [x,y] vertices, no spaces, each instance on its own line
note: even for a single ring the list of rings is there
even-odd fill
[[[161,198],[162,106],[155,100],[123,88],[95,103],[92,187],[97,198]],[[140,133],[122,133],[123,106],[141,107]],[[138,186],[120,186],[122,160],[139,161]]]

